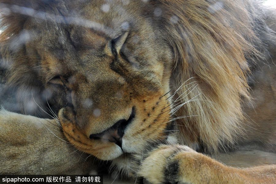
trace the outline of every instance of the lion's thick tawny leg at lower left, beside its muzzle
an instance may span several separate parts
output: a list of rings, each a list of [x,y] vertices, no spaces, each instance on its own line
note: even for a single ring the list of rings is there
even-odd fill
[[[93,161],[64,139],[56,120],[0,109],[0,174],[87,174]]]

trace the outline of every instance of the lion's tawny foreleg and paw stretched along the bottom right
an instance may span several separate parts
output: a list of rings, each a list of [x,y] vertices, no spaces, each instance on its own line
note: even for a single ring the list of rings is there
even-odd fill
[[[181,145],[161,146],[142,162],[144,183],[276,183],[276,165],[238,169]]]

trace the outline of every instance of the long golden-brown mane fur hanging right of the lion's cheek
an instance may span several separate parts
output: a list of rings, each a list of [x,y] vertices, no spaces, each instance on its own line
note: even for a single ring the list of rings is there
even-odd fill
[[[198,86],[193,91],[183,88],[178,96],[184,93],[183,102],[197,95],[201,99],[177,112],[178,116],[198,115],[185,119],[189,123],[180,127],[181,140],[198,141],[200,138],[208,148],[214,149],[224,141],[231,143],[234,132],[241,128],[240,98],[248,95],[245,56],[257,54],[250,43],[257,39],[250,26],[252,17],[244,11],[242,3],[247,2],[225,1],[222,10],[213,12],[210,7],[215,5],[207,1],[167,2],[168,16],[174,12],[179,17],[178,27],[168,30],[172,33],[174,50],[178,51],[173,85],[195,77],[187,84],[198,81]],[[253,9],[252,5],[248,6]]]

